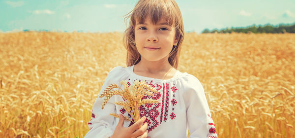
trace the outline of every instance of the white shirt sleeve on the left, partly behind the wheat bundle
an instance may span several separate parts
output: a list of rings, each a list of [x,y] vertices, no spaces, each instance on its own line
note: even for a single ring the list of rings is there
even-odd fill
[[[104,84],[101,87],[99,95],[108,87],[110,84],[116,83],[120,79],[122,67],[116,67],[109,72]],[[111,116],[110,113],[116,113],[115,98],[110,98],[104,109],[101,109],[105,97],[97,98],[92,106],[91,120],[88,123],[89,132],[84,138],[109,138],[113,135],[115,130],[115,117]]]

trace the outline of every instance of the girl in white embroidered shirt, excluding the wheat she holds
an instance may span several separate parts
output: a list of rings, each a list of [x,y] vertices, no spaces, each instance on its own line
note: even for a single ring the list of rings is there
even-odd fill
[[[100,93],[113,83],[123,88],[121,80],[129,85],[139,80],[158,91],[144,98],[160,103],[142,105],[141,119],[133,124],[123,117],[131,115],[114,104],[122,101],[120,96],[113,96],[103,110],[104,98],[98,98],[85,138],[186,138],[188,130],[190,138],[217,138],[203,86],[177,70],[184,29],[175,0],[139,0],[127,18],[127,68],[112,69]],[[120,119],[110,113],[120,114]]]

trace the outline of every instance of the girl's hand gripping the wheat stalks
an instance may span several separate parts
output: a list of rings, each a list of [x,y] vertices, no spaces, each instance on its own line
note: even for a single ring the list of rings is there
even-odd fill
[[[147,117],[142,117],[135,124],[131,125],[128,128],[125,128],[124,125],[124,116],[120,114],[120,119],[118,125],[114,131],[114,134],[111,138],[147,138],[148,137],[148,124],[145,123],[142,125]],[[149,137],[148,137],[149,138]]]

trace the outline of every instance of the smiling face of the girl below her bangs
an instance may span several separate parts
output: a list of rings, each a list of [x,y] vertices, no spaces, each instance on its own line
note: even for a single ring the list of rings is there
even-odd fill
[[[173,45],[178,42],[175,33],[175,29],[163,18],[157,24],[153,24],[150,19],[147,19],[144,24],[136,22],[135,44],[141,59],[147,61],[167,59],[168,61]]]

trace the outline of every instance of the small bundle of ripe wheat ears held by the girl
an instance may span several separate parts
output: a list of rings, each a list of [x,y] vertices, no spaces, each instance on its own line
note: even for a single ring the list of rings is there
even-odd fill
[[[112,96],[119,95],[125,100],[125,102],[120,101],[120,102],[115,102],[115,104],[123,106],[126,109],[126,111],[129,114],[131,114],[134,120],[133,122],[127,116],[124,116],[124,119],[126,121],[132,121],[133,123],[135,123],[137,120],[140,119],[139,107],[141,105],[159,103],[159,101],[152,100],[152,99],[142,100],[145,95],[152,96],[153,93],[158,93],[155,88],[151,87],[147,83],[139,82],[138,80],[136,80],[134,81],[133,85],[130,87],[128,86],[126,80],[122,80],[120,83],[124,86],[124,90],[122,90],[117,84],[111,84],[99,96],[99,98],[105,97],[104,102],[101,106],[102,109],[104,108],[105,104],[107,104],[107,102]],[[113,90],[116,88],[119,88],[119,89]],[[118,114],[111,113],[110,115],[119,118]]]

